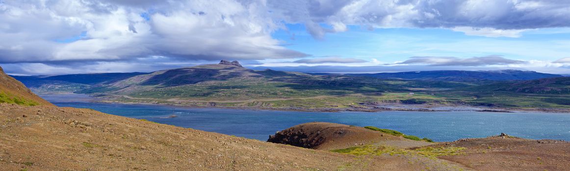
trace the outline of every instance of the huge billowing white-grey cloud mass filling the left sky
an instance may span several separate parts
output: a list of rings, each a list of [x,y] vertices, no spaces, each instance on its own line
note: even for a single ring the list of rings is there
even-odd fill
[[[220,8],[219,6],[223,6]],[[6,1],[0,5],[0,62],[188,60],[307,56],[280,46],[282,27],[261,1],[160,2],[160,9],[101,1]],[[150,20],[141,16],[148,13]],[[85,33],[85,36],[79,37]],[[58,43],[55,40],[75,39]]]

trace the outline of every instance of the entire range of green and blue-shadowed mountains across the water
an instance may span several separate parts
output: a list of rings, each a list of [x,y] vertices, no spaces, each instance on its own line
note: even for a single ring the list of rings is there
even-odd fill
[[[152,73],[15,77],[36,93],[89,94],[121,103],[319,111],[378,110],[394,103],[570,107],[563,102],[570,77],[521,70],[309,74],[252,70],[222,60]]]

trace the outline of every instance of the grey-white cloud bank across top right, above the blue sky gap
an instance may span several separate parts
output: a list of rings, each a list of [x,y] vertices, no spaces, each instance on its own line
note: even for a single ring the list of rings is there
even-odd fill
[[[342,25],[435,27],[490,37],[518,37],[529,29],[570,26],[570,1],[564,0],[270,0],[268,5],[286,22],[305,24],[317,38],[326,29],[314,23],[328,24],[334,28],[331,32],[345,31],[337,29]]]

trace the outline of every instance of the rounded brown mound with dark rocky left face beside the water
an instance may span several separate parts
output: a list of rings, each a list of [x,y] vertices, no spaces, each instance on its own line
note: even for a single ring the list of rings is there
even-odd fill
[[[405,147],[431,144],[425,141],[408,140],[363,127],[325,122],[299,124],[275,133],[267,141],[323,150],[343,149],[364,144],[404,145]]]

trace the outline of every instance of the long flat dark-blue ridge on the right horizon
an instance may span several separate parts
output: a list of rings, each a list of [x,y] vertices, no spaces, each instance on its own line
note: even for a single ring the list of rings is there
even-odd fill
[[[376,74],[348,74],[352,76],[364,76],[383,79],[402,80],[423,80],[423,81],[505,81],[505,80],[535,80],[539,78],[563,77],[557,74],[539,73],[523,70],[489,70],[489,71],[467,71],[467,70],[431,70],[417,72],[399,73],[376,73]]]

